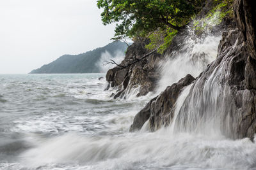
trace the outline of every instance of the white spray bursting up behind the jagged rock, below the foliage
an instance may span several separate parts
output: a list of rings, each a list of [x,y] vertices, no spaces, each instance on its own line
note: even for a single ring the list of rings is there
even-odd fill
[[[180,78],[191,74],[198,76],[213,60],[216,59],[221,32],[213,36],[205,32],[198,38],[192,26],[188,27],[183,35],[176,37],[179,43],[171,53],[167,53],[165,59],[159,63],[161,78],[158,82],[156,93],[162,92],[168,85],[172,85]]]

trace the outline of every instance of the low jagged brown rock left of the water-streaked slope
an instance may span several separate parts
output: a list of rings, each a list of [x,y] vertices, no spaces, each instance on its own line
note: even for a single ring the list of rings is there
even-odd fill
[[[169,125],[173,117],[172,108],[184,87],[191,84],[195,78],[188,74],[178,83],[168,86],[164,92],[152,99],[134,118],[130,131],[141,129],[143,124],[149,119],[152,131],[159,129],[163,125]]]

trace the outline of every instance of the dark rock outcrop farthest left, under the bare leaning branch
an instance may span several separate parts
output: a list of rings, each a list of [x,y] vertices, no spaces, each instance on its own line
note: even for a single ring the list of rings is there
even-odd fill
[[[137,96],[144,96],[151,92],[159,77],[156,69],[161,58],[163,55],[157,52],[148,52],[139,42],[129,46],[120,66],[109,69],[106,74],[109,87],[118,88],[115,98],[123,97],[125,92],[137,87],[140,87]]]

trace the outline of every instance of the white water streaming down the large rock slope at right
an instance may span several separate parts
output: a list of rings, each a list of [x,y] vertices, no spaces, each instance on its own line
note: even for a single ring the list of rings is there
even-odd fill
[[[203,86],[200,80],[196,81],[188,99],[177,111],[176,131],[221,135],[221,124],[228,125],[223,122],[226,104],[223,92],[228,90],[218,84],[221,72],[217,67]]]

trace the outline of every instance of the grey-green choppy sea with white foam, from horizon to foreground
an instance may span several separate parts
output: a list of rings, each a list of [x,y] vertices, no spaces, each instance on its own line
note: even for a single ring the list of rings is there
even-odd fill
[[[101,76],[0,74],[0,169],[256,169],[250,139],[129,132],[156,94],[114,100]]]

